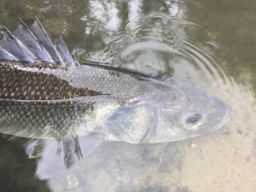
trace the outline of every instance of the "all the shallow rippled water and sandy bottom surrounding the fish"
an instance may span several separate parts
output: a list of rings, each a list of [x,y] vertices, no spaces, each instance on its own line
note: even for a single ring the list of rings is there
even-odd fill
[[[36,15],[82,61],[168,75],[232,109],[222,129],[181,142],[105,142],[49,181],[33,177],[26,140],[1,138],[0,191],[255,191],[255,3],[0,0],[11,31]]]

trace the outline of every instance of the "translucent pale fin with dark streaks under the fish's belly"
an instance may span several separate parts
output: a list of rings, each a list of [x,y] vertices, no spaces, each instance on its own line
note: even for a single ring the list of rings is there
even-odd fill
[[[30,153],[30,158],[42,156],[38,161],[35,176],[48,179],[65,172],[88,156],[104,139],[105,135],[93,133],[83,137],[65,137],[44,142],[37,140]]]

